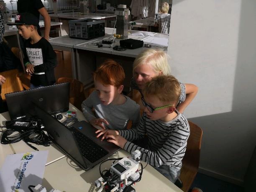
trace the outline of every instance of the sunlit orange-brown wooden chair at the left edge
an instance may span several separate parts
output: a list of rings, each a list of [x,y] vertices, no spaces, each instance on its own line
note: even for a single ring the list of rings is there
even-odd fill
[[[5,94],[17,91],[23,91],[24,88],[20,81],[18,69],[13,69],[5,72],[1,72],[0,75],[6,78],[5,83],[2,85],[1,97],[5,101]]]

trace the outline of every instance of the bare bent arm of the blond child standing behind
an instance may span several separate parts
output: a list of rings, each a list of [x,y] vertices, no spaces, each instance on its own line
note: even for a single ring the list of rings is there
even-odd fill
[[[189,103],[194,99],[197,95],[198,87],[195,84],[185,84],[186,87],[186,99],[184,102],[181,102],[179,106],[176,108],[179,113],[183,113],[185,108],[189,105]]]

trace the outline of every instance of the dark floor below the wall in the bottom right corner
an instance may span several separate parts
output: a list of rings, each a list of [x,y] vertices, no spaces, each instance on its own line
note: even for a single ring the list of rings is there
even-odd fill
[[[198,187],[203,192],[243,192],[243,187],[201,173],[197,173],[192,184],[193,187]]]

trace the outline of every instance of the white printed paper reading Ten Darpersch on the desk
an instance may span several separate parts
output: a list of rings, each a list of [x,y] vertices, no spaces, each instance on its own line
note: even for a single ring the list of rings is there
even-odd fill
[[[29,185],[41,184],[48,151],[8,155],[0,169],[1,192],[27,192]]]

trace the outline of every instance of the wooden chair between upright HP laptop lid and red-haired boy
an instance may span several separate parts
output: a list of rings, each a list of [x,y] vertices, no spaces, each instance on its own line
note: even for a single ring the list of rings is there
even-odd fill
[[[79,82],[77,79],[72,79],[68,77],[60,77],[56,84],[70,82],[70,94],[69,102],[74,105],[79,110],[82,110],[81,104],[85,100],[84,97],[84,85],[82,82]]]

